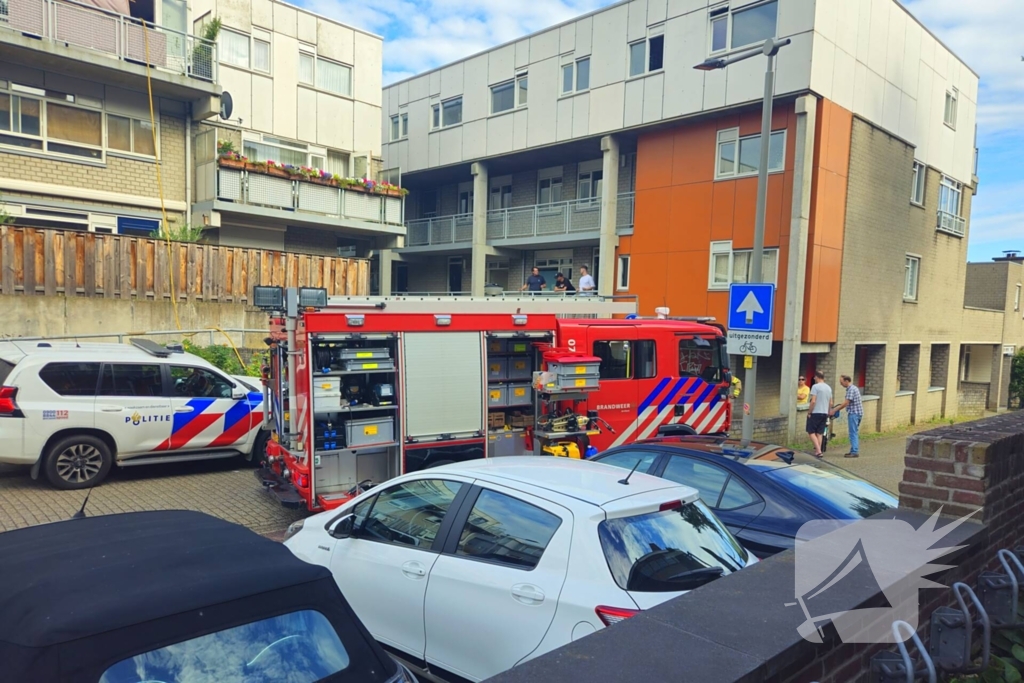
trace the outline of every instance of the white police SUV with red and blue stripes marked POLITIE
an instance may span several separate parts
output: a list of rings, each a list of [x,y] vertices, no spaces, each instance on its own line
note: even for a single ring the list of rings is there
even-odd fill
[[[262,460],[262,394],[199,356],[129,344],[0,341],[0,463],[57,488],[114,464]]]

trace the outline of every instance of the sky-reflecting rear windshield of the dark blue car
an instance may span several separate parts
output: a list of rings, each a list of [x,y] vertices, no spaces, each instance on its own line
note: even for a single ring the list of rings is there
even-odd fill
[[[833,513],[837,519],[866,519],[899,504],[889,492],[826,462],[775,465],[763,468],[766,476]]]

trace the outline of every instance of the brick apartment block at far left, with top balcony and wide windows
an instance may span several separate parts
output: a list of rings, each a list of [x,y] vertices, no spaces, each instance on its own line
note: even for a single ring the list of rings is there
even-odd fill
[[[0,3],[0,208],[15,224],[187,221],[186,140],[220,108],[217,45],[187,33],[183,0],[101,4]]]

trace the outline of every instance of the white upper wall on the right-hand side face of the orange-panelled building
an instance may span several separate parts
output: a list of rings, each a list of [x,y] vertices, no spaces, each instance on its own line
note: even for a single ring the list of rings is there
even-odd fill
[[[801,1],[814,4],[811,88],[970,183],[978,77],[893,0]],[[951,88],[959,90],[955,130],[943,123]]]

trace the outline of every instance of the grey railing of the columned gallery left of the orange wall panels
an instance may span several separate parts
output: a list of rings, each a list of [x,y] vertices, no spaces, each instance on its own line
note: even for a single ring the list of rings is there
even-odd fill
[[[633,193],[618,196],[615,229],[633,229]],[[438,218],[406,221],[409,229],[406,245],[427,247],[466,245],[473,239],[473,214],[464,213]],[[601,229],[601,203],[598,200],[572,200],[557,204],[535,204],[487,211],[487,242],[546,238],[597,232]]]

